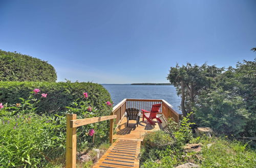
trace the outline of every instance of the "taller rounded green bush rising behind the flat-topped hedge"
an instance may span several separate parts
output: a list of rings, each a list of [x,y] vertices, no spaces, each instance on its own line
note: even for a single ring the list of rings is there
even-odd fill
[[[52,65],[16,52],[0,50],[0,81],[56,81]]]

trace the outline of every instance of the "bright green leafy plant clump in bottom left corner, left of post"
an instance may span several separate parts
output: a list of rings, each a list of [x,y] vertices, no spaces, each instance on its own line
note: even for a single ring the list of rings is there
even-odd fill
[[[42,167],[63,154],[65,141],[58,141],[53,127],[47,117],[35,114],[2,117],[0,167]]]

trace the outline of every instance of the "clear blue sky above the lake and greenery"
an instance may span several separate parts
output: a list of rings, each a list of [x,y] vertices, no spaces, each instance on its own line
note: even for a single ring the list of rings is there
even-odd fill
[[[52,64],[58,81],[168,82],[169,67],[253,60],[256,1],[0,0],[0,49]]]

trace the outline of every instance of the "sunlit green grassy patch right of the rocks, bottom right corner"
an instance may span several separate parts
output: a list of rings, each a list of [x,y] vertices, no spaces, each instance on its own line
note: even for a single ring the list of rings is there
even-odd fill
[[[256,166],[256,152],[248,144],[225,138],[202,138],[201,143],[203,144],[202,159],[200,159],[202,167]]]

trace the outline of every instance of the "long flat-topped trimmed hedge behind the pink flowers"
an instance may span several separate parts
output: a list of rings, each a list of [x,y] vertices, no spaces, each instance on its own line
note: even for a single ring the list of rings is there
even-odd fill
[[[106,101],[111,101],[108,91],[101,85],[92,82],[32,82],[32,81],[2,81],[0,82],[0,103],[16,104],[21,100],[19,97],[28,98],[31,91],[40,89],[40,94],[35,95],[40,98],[42,93],[47,93],[47,98],[40,98],[38,113],[54,114],[57,111],[66,110],[71,102],[83,97],[83,92],[87,92],[90,104],[96,108],[101,108]]]

